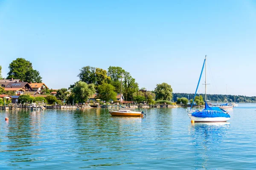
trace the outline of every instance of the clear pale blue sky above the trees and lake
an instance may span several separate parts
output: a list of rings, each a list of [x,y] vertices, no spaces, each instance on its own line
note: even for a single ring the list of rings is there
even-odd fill
[[[195,93],[205,55],[208,94],[256,96],[255,0],[0,0],[3,77],[21,57],[52,89],[89,65]]]

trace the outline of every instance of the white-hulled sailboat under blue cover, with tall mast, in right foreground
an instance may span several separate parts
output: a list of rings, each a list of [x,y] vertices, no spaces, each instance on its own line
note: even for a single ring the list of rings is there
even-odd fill
[[[206,95],[207,94],[207,91],[206,91],[207,90],[207,88],[206,88],[207,87],[206,59],[207,59],[207,56],[205,56],[202,71],[201,71],[201,74],[200,74],[200,77],[198,80],[198,85],[195,90],[195,96],[196,96],[198,86],[200,84],[200,80],[202,77],[202,73],[204,71],[204,65],[205,65],[205,100],[207,100],[207,95]],[[195,96],[194,96],[193,102],[195,100]],[[230,115],[227,112],[221,110],[218,107],[209,107],[209,105],[207,104],[207,101],[205,101],[204,110],[202,110],[202,111],[196,110],[196,111],[191,112],[191,109],[192,109],[192,105],[191,105],[190,110],[188,111],[188,116],[191,119],[191,121],[194,121],[194,122],[226,122],[230,119]]]

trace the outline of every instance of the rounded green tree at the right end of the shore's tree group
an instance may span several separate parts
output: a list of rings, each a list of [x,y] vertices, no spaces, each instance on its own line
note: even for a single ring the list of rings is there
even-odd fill
[[[157,84],[154,92],[157,100],[172,100],[172,87],[165,82],[162,84]]]

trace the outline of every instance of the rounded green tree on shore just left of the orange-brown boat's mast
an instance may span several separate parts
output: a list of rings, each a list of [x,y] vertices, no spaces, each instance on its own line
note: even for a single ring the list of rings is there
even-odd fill
[[[99,85],[98,87],[98,95],[97,98],[109,101],[110,99],[116,100],[116,92],[115,87],[113,85],[104,83],[102,85]]]

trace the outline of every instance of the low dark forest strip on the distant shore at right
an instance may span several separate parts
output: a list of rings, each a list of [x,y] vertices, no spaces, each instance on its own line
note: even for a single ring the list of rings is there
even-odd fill
[[[174,102],[177,98],[186,97],[187,99],[193,99],[195,94],[188,93],[173,93]],[[205,94],[196,94],[197,96],[202,96],[205,101]],[[256,103],[256,96],[248,97],[242,95],[225,95],[225,94],[207,94],[207,100],[210,102],[246,102],[246,103]]]

